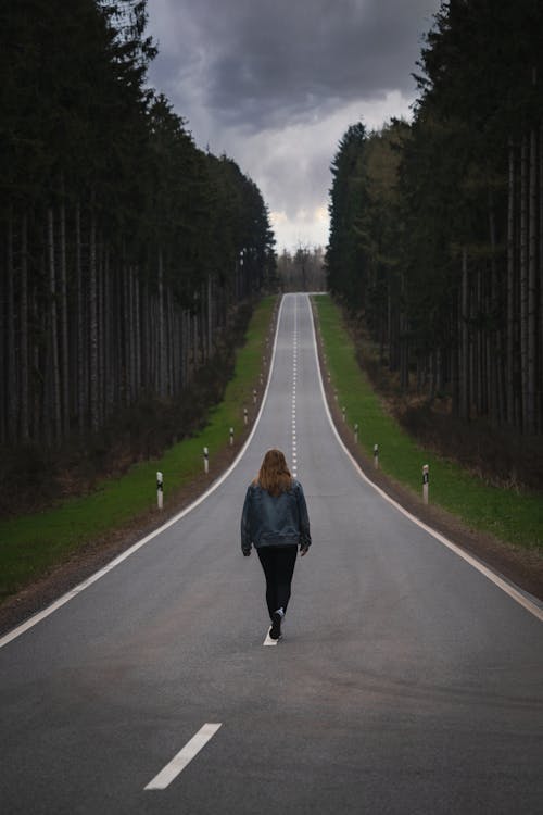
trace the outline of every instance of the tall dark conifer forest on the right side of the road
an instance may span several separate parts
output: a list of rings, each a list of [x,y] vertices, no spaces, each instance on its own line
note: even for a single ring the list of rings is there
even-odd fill
[[[414,120],[351,126],[328,283],[403,388],[543,432],[543,7],[443,2]]]

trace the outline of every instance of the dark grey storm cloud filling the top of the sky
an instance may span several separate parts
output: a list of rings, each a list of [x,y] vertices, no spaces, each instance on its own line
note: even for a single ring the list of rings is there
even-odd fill
[[[151,0],[165,51],[153,78],[169,83],[175,59],[179,90],[197,82],[215,116],[251,128],[391,89],[413,92],[411,71],[434,7],[432,0]]]

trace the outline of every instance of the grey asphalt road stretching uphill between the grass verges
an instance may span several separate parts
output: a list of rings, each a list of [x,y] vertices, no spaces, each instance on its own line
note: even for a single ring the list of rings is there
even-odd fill
[[[314,541],[270,648],[261,566],[239,543],[269,447],[296,463]],[[230,475],[2,642],[2,815],[543,812],[543,623],[361,478],[302,294],[283,300]]]

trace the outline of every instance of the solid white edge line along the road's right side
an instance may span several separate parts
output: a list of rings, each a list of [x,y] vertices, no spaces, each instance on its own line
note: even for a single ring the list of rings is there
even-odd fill
[[[530,614],[533,614],[534,617],[536,617],[539,620],[543,623],[543,607],[540,607],[535,603],[533,603],[529,598],[527,598],[521,591],[516,589],[514,586],[508,584],[506,580],[504,580],[500,575],[496,575],[492,569],[484,566],[484,564],[480,563],[476,557],[472,557],[468,552],[465,552],[463,549],[460,549],[456,543],[453,543],[447,538],[445,538],[441,532],[438,532],[435,529],[432,529],[431,526],[428,526],[422,521],[419,521],[419,518],[415,517],[415,515],[412,515],[411,512],[407,512],[401,504],[399,504],[394,499],[390,498],[380,487],[377,486],[377,484],[374,484],[367,475],[364,473],[362,467],[359,466],[358,462],[354,456],[350,453],[345,444],[343,443],[343,439],[338,432],[338,429],[336,425],[333,424],[333,419],[330,413],[330,409],[328,408],[328,402],[326,399],[325,393],[325,387],[323,385],[323,376],[320,373],[320,363],[318,360],[318,351],[317,351],[317,337],[315,333],[315,321],[313,318],[313,311],[311,308],[311,302],[308,296],[306,296],[307,304],[310,308],[310,314],[311,314],[311,324],[312,324],[312,330],[313,330],[313,347],[315,351],[315,359],[317,361],[317,371],[318,371],[318,380],[320,384],[320,392],[323,394],[323,402],[325,404],[326,414],[328,416],[328,422],[330,423],[330,427],[332,428],[332,431],[338,440],[338,443],[342,448],[345,455],[351,460],[352,465],[361,476],[361,478],[366,481],[370,487],[372,487],[376,492],[378,492],[381,498],[383,498],[386,501],[389,502],[389,504],[392,504],[399,512],[402,513],[402,515],[405,515],[406,518],[409,518],[414,524],[419,526],[421,529],[427,531],[429,535],[431,535],[435,540],[439,540],[440,543],[443,543],[443,546],[447,547],[447,549],[451,549],[455,554],[457,554],[459,557],[462,557],[464,561],[469,563],[470,566],[476,568],[478,572],[481,573],[481,575],[484,575],[491,582],[493,582],[495,586],[497,586],[502,591],[505,591],[506,594],[508,594],[513,600],[515,600],[519,605],[521,605],[526,611],[530,612]]]

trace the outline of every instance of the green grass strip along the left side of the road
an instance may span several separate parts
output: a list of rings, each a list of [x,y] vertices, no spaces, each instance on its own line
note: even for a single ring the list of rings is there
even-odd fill
[[[245,344],[238,351],[236,369],[224,400],[209,412],[206,426],[168,449],[161,459],[132,466],[119,478],[102,481],[96,491],[64,501],[53,509],[0,522],[0,602],[84,543],[123,527],[156,506],[156,471],[164,474],[164,504],[168,494],[190,482],[203,469],[202,450],[210,461],[243,431],[243,406],[250,413],[257,388],[276,298],[265,298],[251,318]]]

